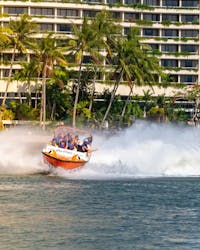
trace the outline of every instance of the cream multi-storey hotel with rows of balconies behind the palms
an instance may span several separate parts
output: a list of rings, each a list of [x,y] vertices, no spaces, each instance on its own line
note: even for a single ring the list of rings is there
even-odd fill
[[[95,18],[102,9],[108,10],[122,25],[124,35],[131,26],[140,27],[141,36],[152,47],[172,83],[192,85],[200,82],[199,0],[8,0],[1,1],[1,9],[2,14],[8,14],[1,17],[1,25],[27,13],[39,24],[41,32],[66,35],[72,33],[72,23],[81,24],[84,16]],[[11,52],[1,54],[1,96],[9,68],[3,63],[5,58],[11,58]],[[16,61],[14,70],[18,69]],[[17,98],[17,88],[18,83],[13,82],[9,88],[10,98]],[[128,93],[126,87],[119,91]],[[140,93],[139,89],[136,91]]]

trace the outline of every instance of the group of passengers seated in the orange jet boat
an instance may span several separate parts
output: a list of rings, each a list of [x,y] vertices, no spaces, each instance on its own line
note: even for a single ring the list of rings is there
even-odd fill
[[[59,133],[52,139],[51,144],[53,146],[58,146],[60,148],[65,148],[69,150],[88,152],[92,146],[92,136],[85,138],[81,143],[78,135],[74,135],[73,133],[63,135],[62,133]]]

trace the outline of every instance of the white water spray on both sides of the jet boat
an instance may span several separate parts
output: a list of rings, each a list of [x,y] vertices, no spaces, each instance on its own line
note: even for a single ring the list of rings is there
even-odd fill
[[[0,174],[47,171],[41,150],[51,134],[9,129],[0,134]],[[200,176],[200,128],[136,122],[110,135],[96,132],[90,162],[74,171],[53,175],[75,179],[119,179],[159,176]]]

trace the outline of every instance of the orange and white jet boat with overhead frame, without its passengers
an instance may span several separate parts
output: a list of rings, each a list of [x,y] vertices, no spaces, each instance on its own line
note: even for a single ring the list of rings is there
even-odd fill
[[[92,150],[88,149],[83,151],[80,150],[80,147],[74,148],[72,150],[69,149],[66,144],[65,147],[60,147],[59,141],[57,139],[59,135],[63,138],[65,138],[66,135],[70,135],[71,137],[77,135],[82,137],[84,136],[82,145],[84,145],[85,140],[91,138],[91,135],[85,130],[75,129],[68,126],[58,126],[54,130],[54,137],[52,139],[52,142],[47,144],[46,147],[42,150],[44,163],[48,164],[50,167],[60,167],[65,170],[76,169],[84,166],[90,160]],[[60,141],[62,140],[60,139]]]

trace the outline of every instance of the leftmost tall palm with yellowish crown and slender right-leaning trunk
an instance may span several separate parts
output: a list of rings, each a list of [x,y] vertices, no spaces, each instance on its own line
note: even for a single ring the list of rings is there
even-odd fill
[[[31,35],[33,35],[36,32],[37,25],[35,22],[31,21],[31,18],[28,15],[23,14],[20,16],[20,19],[11,20],[9,22],[8,28],[11,30],[11,34],[8,34],[8,37],[10,39],[10,45],[12,46],[13,52],[10,61],[8,81],[6,83],[6,89],[4,92],[2,106],[4,106],[6,102],[8,88],[11,83],[13,64],[17,50],[20,53],[23,54],[26,53],[27,47],[31,46],[32,42]]]

